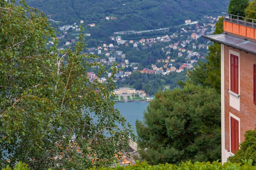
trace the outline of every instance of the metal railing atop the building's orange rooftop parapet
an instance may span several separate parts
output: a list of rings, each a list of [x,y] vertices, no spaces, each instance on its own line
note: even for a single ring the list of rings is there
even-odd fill
[[[233,22],[236,24],[256,28],[256,20],[254,20],[252,18],[241,17],[238,15],[232,15],[229,13],[223,13],[223,14],[224,14],[224,21]]]

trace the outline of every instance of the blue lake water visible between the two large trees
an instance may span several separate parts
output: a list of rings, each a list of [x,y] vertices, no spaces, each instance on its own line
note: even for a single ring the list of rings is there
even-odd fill
[[[135,121],[143,120],[144,111],[146,111],[148,104],[149,102],[117,102],[114,106],[132,125],[134,134],[137,135]]]

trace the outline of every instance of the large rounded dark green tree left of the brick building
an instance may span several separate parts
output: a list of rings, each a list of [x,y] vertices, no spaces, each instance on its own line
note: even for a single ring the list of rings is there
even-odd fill
[[[136,121],[141,157],[150,164],[220,159],[220,96],[186,82],[183,89],[155,94]]]

